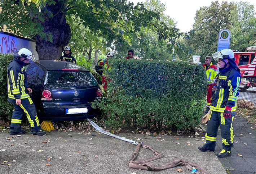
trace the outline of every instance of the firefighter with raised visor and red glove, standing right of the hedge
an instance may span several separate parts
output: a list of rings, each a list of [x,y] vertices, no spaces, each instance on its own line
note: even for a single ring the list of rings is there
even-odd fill
[[[198,147],[200,151],[214,151],[218,127],[220,126],[222,137],[222,150],[217,157],[231,155],[233,147],[232,122],[237,109],[237,96],[239,95],[239,84],[241,82],[240,70],[235,64],[234,52],[224,49],[212,54],[214,60],[220,64],[220,72],[216,76],[216,91],[212,98],[210,107],[211,115],[207,124],[206,144]]]

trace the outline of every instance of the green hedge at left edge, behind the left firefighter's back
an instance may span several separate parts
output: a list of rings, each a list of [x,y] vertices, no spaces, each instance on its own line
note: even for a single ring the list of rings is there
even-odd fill
[[[7,100],[7,67],[12,59],[12,54],[0,54],[0,116],[9,120],[12,117],[13,105]]]

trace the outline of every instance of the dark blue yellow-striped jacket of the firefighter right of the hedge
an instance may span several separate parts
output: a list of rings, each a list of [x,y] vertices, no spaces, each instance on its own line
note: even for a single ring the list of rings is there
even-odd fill
[[[220,69],[216,77],[216,90],[212,99],[210,109],[217,112],[224,112],[225,107],[231,107],[231,111],[237,110],[237,96],[239,95],[239,84],[241,75],[239,69],[229,66]]]

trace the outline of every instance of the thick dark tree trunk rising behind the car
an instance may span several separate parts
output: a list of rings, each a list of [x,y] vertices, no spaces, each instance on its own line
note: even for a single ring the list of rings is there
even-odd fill
[[[65,14],[62,13],[63,10],[60,10],[62,3],[58,0],[55,0],[55,2],[55,5],[46,6],[41,10],[41,14],[45,14],[42,23],[44,33],[47,38],[52,35],[52,42],[41,38],[39,35],[34,37],[39,60],[59,59],[63,46],[67,45],[71,38],[70,26],[66,22]],[[52,12],[52,18],[47,16],[49,14],[47,10]],[[38,20],[38,18],[33,20]]]

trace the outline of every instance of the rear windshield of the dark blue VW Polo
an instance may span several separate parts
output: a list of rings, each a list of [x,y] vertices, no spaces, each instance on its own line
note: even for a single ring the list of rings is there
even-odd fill
[[[57,89],[90,88],[97,86],[97,81],[87,71],[47,71],[44,86]]]

